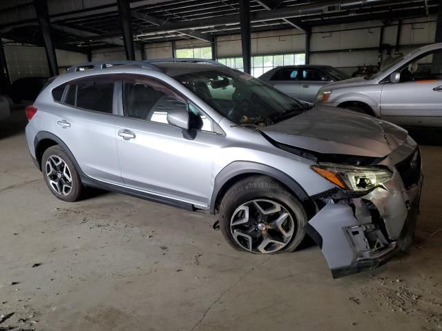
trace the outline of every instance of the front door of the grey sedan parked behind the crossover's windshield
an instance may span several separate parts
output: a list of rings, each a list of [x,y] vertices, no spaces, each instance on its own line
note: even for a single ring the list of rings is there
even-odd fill
[[[298,79],[300,81],[299,99],[307,102],[314,102],[318,90],[332,81],[327,74],[313,68],[300,68]]]

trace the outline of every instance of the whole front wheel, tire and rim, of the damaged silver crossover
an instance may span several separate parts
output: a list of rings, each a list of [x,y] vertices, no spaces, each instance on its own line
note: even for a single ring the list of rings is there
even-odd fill
[[[307,214],[283,185],[267,176],[234,184],[220,204],[220,229],[236,250],[293,252],[305,237]]]

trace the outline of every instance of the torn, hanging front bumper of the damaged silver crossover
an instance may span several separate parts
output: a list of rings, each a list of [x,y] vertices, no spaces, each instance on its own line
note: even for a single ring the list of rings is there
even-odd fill
[[[323,194],[323,207],[305,228],[334,278],[372,270],[412,243],[423,182],[419,148],[411,141],[380,164],[394,170],[383,187],[362,197]]]

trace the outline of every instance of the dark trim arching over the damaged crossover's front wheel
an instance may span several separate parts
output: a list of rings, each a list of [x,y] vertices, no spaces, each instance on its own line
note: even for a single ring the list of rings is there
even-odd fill
[[[218,199],[218,194],[220,194],[224,185],[229,180],[242,174],[265,174],[286,185],[289,190],[296,194],[296,197],[298,197],[298,199],[309,199],[309,195],[307,194],[307,192],[305,192],[302,186],[285,172],[273,168],[270,165],[258,162],[233,161],[232,163],[226,165],[215,177],[215,183],[213,185],[213,191],[210,201],[211,214],[215,214],[215,203]]]

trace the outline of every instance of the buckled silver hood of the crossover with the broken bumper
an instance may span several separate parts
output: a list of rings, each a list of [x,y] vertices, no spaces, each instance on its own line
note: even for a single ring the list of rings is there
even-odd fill
[[[316,106],[260,130],[278,143],[365,157],[385,157],[407,139],[407,131],[392,123],[327,106]]]

